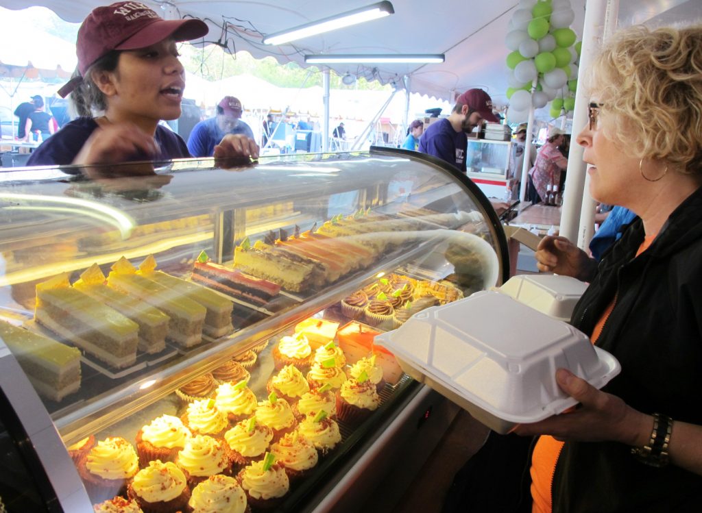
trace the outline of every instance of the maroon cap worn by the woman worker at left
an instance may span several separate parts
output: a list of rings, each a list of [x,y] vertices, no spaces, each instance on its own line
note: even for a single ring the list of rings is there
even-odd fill
[[[202,20],[164,20],[141,2],[117,2],[98,7],[88,15],[78,29],[76,55],[78,71],[85,75],[96,60],[113,50],[137,50],[173,36],[176,41],[190,41],[208,32]],[[60,88],[63,98],[82,80],[71,79]]]

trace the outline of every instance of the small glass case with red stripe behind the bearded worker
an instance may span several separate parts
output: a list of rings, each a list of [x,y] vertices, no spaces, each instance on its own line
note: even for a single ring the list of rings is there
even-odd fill
[[[506,194],[511,186],[511,154],[511,141],[468,138],[465,156],[468,178],[475,182],[486,196],[507,199]]]

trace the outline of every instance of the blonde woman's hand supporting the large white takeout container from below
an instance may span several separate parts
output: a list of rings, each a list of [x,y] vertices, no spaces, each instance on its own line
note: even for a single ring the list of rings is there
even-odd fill
[[[619,397],[601,392],[564,368],[556,371],[556,381],[563,392],[580,404],[541,422],[519,425],[515,433],[550,434],[562,441],[618,441],[630,446],[643,446],[648,441],[653,424],[649,415],[630,408]]]

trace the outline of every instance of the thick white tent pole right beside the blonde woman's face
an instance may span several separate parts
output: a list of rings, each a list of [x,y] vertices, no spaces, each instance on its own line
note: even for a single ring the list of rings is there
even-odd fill
[[[590,62],[592,62],[597,49],[600,47],[603,21],[606,19],[608,8],[608,0],[588,0],[586,4],[585,24],[583,27],[583,48],[581,50],[580,67],[578,69],[578,82],[581,84],[583,83],[582,80],[585,74],[588,73]],[[573,112],[573,137],[576,137],[576,134],[588,122],[589,101],[590,99],[585,96],[583,88],[578,88]],[[571,145],[563,196],[560,234],[571,241],[582,240],[582,244],[584,244],[585,239],[584,237],[581,239],[578,236],[578,226],[580,225],[580,214],[583,208],[583,196],[588,194],[588,192],[585,192],[586,174],[585,163],[583,162],[583,147],[578,144]],[[578,246],[580,246],[580,244],[581,243],[578,242]],[[582,248],[583,246],[580,247]]]

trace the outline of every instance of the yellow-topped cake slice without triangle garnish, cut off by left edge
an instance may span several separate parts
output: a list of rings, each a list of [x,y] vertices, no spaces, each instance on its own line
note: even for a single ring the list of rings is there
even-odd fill
[[[0,321],[0,340],[10,348],[39,395],[60,401],[81,386],[81,352]]]

